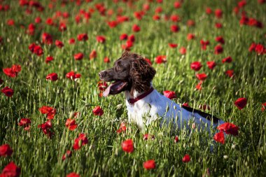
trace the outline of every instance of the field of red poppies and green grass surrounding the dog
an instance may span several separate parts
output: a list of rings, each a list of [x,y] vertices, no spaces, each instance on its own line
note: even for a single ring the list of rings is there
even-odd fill
[[[0,176],[266,176],[265,0],[0,0]],[[127,122],[124,50],[229,127]],[[191,125],[193,127],[193,125]]]

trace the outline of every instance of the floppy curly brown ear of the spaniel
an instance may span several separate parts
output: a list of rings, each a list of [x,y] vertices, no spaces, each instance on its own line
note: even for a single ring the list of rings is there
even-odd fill
[[[145,92],[150,89],[151,81],[155,76],[155,69],[148,64],[146,60],[140,55],[134,56],[136,59],[132,59],[130,67],[130,76],[132,78],[132,90],[130,93],[133,95],[134,90],[137,92]]]

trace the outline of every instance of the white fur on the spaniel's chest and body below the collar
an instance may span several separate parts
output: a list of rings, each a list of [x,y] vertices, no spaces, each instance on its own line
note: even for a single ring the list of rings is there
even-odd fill
[[[132,97],[130,92],[125,91],[129,122],[135,122],[140,129],[143,129],[144,125],[149,125],[158,118],[162,118],[161,123],[164,121],[167,123],[174,121],[174,125],[178,125],[179,128],[183,128],[186,125],[190,129],[191,125],[188,125],[188,122],[194,122],[198,129],[205,128],[207,125],[209,131],[210,127],[216,126],[198,113],[191,113],[181,108],[179,104],[160,94],[157,90],[153,90],[151,94],[148,94],[134,104],[130,104],[127,101],[128,99],[138,97],[140,94],[142,93],[134,92]],[[222,123],[222,120],[218,122],[218,124]]]

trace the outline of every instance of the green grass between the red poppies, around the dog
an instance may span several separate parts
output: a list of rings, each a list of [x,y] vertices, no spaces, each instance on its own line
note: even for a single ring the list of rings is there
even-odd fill
[[[14,150],[11,157],[0,157],[0,170],[10,161],[21,167],[21,176],[66,176],[76,172],[80,176],[203,176],[207,171],[211,176],[265,176],[266,174],[266,111],[261,111],[261,104],[266,101],[266,58],[248,52],[252,42],[265,43],[265,28],[239,25],[239,16],[232,12],[237,1],[184,1],[182,8],[175,9],[174,1],[151,3],[151,9],[142,20],[134,18],[134,11],[141,10],[144,1],[134,3],[134,8],[125,3],[104,2],[106,7],[115,12],[122,7],[123,15],[130,17],[130,22],[119,24],[110,29],[106,24],[106,17],[98,12],[92,14],[88,23],[76,24],[74,17],[79,9],[87,10],[94,7],[96,0],[91,3],[67,3],[62,7],[58,3],[54,9],[48,8],[50,1],[41,1],[45,10],[39,13],[35,9],[31,15],[25,14],[25,8],[19,6],[18,1],[3,1],[9,4],[10,10],[0,12],[0,68],[20,64],[22,71],[16,78],[8,78],[1,71],[4,80],[3,87],[14,90],[13,97],[0,94],[0,145],[8,143]],[[146,2],[146,1],[145,1]],[[174,24],[163,20],[155,22],[152,19],[157,6],[162,6],[162,14],[177,14],[181,28],[173,34],[169,27]],[[213,10],[221,8],[223,18],[217,20],[214,15],[207,15],[205,8]],[[55,15],[57,10],[70,14],[66,23],[67,30],[63,33],[58,27],[45,24],[47,17]],[[266,4],[248,1],[244,8],[248,17],[255,17],[263,24],[266,23]],[[20,24],[27,26],[40,16],[41,24],[36,24],[34,36],[25,34]],[[8,19],[15,20],[15,26],[6,25]],[[111,20],[115,19],[113,15]],[[187,27],[187,20],[195,20],[195,27]],[[222,29],[214,27],[215,22],[223,24]],[[214,143],[206,132],[186,130],[172,131],[170,127],[160,128],[158,125],[148,127],[143,132],[136,125],[127,125],[125,134],[117,134],[120,122],[127,122],[127,111],[123,94],[108,98],[98,97],[98,72],[112,66],[120,57],[123,50],[119,40],[120,34],[133,34],[132,24],[139,24],[141,31],[135,34],[136,41],[133,52],[137,52],[153,61],[157,73],[153,85],[159,92],[173,90],[178,99],[176,102],[187,101],[190,106],[198,108],[200,104],[211,106],[209,113],[214,113],[226,122],[233,122],[239,126],[239,136],[227,136],[225,144]],[[63,41],[62,49],[55,45],[43,45],[41,34],[43,31],[52,34],[53,39]],[[80,33],[87,33],[89,40],[76,41],[76,45],[69,45],[69,38],[76,38]],[[188,33],[196,35],[195,41],[187,41]],[[97,43],[97,35],[106,36],[106,43]],[[216,36],[225,38],[223,53],[214,55]],[[200,39],[209,40],[207,50],[200,49]],[[30,43],[39,43],[44,54],[38,57],[28,49]],[[178,43],[176,49],[169,48],[168,43]],[[187,54],[181,55],[179,48],[187,48]],[[97,50],[97,58],[90,60],[90,52]],[[83,52],[82,61],[75,61],[73,55]],[[55,60],[45,64],[45,57],[52,55]],[[154,58],[167,55],[166,64],[155,64]],[[110,57],[111,62],[103,62],[104,57]],[[224,57],[231,56],[233,62],[222,64]],[[216,61],[218,66],[211,71],[207,68],[207,61]],[[195,71],[190,69],[190,63],[202,62],[200,72],[208,75],[202,84],[202,90],[195,90],[198,80]],[[234,69],[235,77],[229,78],[225,71]],[[81,73],[81,79],[75,83],[65,77],[69,71]],[[55,72],[59,78],[55,82],[45,80],[48,73]],[[242,110],[234,105],[239,97],[246,97],[248,104]],[[123,104],[121,108],[117,106]],[[99,105],[104,110],[101,117],[92,113],[92,108]],[[52,139],[48,139],[38,125],[46,121],[38,108],[52,106],[57,109],[55,119],[52,120]],[[73,132],[65,127],[66,119],[73,111],[80,112],[76,119],[78,128]],[[29,132],[18,126],[21,118],[31,118]],[[80,150],[73,150],[72,157],[62,162],[62,155],[66,150],[72,150],[73,141],[78,134],[86,134],[89,143]],[[145,141],[143,134],[154,134],[155,140]],[[174,143],[174,136],[180,141]],[[121,143],[126,139],[133,139],[134,153],[127,154],[121,149]],[[211,145],[214,152],[211,153]],[[191,161],[182,162],[185,154],[189,154]],[[225,158],[225,155],[228,158]],[[153,159],[156,169],[144,169],[143,162]]]

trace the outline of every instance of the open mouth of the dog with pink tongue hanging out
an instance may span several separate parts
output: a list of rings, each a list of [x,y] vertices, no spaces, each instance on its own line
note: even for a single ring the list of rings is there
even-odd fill
[[[127,82],[122,80],[116,80],[115,82],[111,83],[109,87],[106,88],[103,92],[104,97],[108,97],[109,94],[119,94],[120,92],[123,92],[125,88],[127,87]]]

